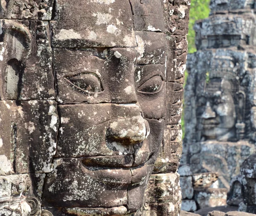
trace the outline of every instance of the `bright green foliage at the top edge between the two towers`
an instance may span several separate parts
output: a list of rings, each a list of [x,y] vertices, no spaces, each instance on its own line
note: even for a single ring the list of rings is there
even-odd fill
[[[196,52],[195,48],[195,31],[193,26],[196,20],[201,20],[209,16],[209,3],[210,0],[191,0],[189,11],[189,53]]]

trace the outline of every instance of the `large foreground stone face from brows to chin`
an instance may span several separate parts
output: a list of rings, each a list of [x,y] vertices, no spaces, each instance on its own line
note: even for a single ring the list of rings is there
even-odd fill
[[[164,65],[135,72],[136,60],[131,48],[54,50],[63,105],[45,206],[142,205],[163,138],[165,75]]]

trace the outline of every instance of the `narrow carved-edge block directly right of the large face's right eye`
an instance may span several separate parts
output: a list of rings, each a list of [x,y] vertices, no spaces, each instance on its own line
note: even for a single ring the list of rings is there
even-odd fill
[[[181,120],[183,108],[183,84],[166,82],[166,125]]]

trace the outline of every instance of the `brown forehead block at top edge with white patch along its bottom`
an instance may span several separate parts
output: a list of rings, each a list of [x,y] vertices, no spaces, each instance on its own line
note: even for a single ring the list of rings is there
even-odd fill
[[[161,1],[130,0],[136,31],[165,32]]]

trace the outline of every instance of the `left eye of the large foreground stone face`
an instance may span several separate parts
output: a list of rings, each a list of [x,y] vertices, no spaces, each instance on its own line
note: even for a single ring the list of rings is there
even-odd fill
[[[66,77],[66,79],[70,82],[72,87],[79,92],[85,91],[96,93],[103,91],[102,83],[98,76],[94,73],[81,73],[78,75]]]

